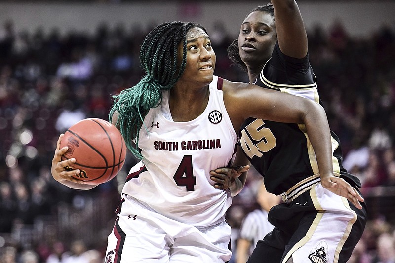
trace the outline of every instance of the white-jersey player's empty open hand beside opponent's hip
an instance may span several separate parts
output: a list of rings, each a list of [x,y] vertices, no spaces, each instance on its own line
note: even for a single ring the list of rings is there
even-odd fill
[[[346,197],[352,202],[356,208],[362,209],[360,202],[363,202],[363,197],[359,194],[356,188],[352,187],[346,180],[337,176],[321,176],[321,185],[329,191]]]

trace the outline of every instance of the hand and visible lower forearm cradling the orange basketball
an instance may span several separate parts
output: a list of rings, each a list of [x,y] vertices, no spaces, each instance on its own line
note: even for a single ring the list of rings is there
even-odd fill
[[[72,171],[65,170],[65,167],[75,163],[76,159],[71,158],[62,161],[62,155],[68,150],[67,146],[63,147],[62,149],[59,149],[60,142],[62,141],[63,136],[64,134],[61,134],[56,143],[56,150],[52,159],[52,167],[51,167],[52,177],[59,183],[73,189],[89,190],[96,187],[96,185],[83,184],[82,181],[73,178],[72,175],[76,175],[80,173],[78,169]]]

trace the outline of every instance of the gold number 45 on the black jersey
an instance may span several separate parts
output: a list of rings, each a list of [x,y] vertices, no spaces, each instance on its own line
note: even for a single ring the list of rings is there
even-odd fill
[[[269,128],[262,127],[265,122],[256,119],[241,131],[241,147],[245,154],[252,159],[254,156],[262,157],[262,152],[268,152],[276,146],[276,138]],[[254,144],[252,140],[257,141]]]

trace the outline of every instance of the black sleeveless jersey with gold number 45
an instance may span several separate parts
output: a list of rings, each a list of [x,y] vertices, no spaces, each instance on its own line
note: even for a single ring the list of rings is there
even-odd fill
[[[308,56],[288,57],[280,51],[278,42],[255,84],[321,104]],[[335,175],[360,188],[359,179],[342,166],[339,138],[333,132],[331,135]],[[241,127],[239,144],[254,168],[264,176],[267,190],[276,195],[319,172],[305,125],[248,118]]]

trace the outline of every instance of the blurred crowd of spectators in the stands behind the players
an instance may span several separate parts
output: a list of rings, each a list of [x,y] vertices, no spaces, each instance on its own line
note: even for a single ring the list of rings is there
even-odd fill
[[[32,230],[30,238],[22,230],[40,228],[38,222],[47,218],[58,224],[60,207],[79,210],[73,215],[81,217],[93,199],[111,200],[105,207],[108,222],[96,225],[105,228],[104,236],[110,233],[122,176],[136,160],[128,155],[116,179],[83,193],[52,179],[51,160],[60,133],[83,118],[108,119],[111,95],[142,77],[139,46],[152,26],[101,24],[94,34],[65,35],[57,29],[16,32],[13,21],[0,26],[0,263],[102,262],[106,240],[78,235],[84,225],[66,232],[55,226],[40,236]],[[209,34],[215,74],[248,82],[227,58],[235,34],[221,23]],[[329,30],[317,26],[308,36],[319,94],[341,139],[344,166],[360,178],[370,209],[350,263],[395,263],[395,34],[383,26],[371,36],[352,38],[339,22]],[[234,240],[244,215],[257,207],[254,180],[261,178],[249,177],[227,215]]]

